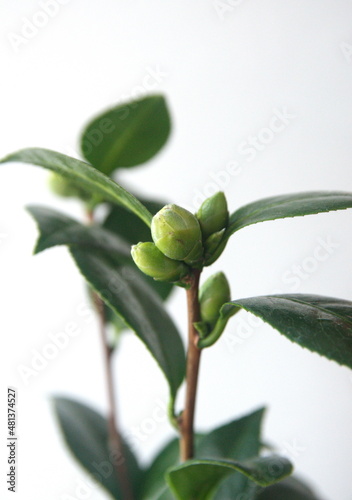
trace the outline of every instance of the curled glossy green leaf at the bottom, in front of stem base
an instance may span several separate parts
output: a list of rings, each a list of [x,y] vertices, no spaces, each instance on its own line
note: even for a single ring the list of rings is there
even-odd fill
[[[167,480],[178,500],[210,500],[219,483],[233,473],[241,473],[260,486],[274,484],[292,472],[282,457],[257,457],[235,460],[189,460],[169,470]]]

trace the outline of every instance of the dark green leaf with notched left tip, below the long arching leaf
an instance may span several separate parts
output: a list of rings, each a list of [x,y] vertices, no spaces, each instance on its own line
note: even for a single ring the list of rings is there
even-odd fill
[[[31,205],[27,210],[39,229],[36,254],[56,245],[78,245],[111,252],[121,262],[132,261],[130,246],[98,225],[85,226],[61,212],[39,205]]]

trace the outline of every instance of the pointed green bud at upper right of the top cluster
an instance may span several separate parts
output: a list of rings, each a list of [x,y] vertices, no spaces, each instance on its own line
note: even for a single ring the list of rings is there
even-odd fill
[[[206,240],[211,234],[224,229],[229,220],[227,201],[224,193],[219,191],[207,198],[197,212],[203,239]]]

